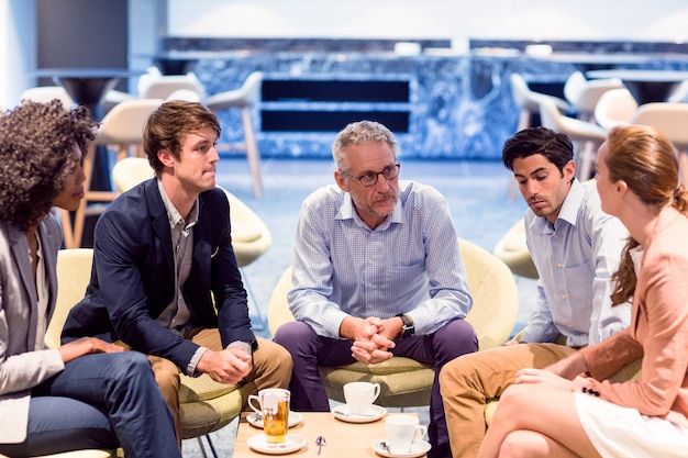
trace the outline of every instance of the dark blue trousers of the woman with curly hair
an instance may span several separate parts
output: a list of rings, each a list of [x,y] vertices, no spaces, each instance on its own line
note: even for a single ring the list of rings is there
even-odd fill
[[[0,444],[25,457],[122,447],[127,458],[181,457],[151,364],[135,351],[86,355],[32,391],[27,438]]]

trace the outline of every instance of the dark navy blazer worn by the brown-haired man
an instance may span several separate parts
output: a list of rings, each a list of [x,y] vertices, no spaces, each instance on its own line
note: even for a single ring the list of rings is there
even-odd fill
[[[218,327],[223,347],[255,345],[246,290],[231,245],[230,206],[222,189],[202,192],[193,226],[193,258],[182,287],[193,326]],[[198,345],[156,321],[174,298],[171,231],[156,179],[120,196],[102,213],[93,237],[91,281],[73,308],[63,343],[82,336],[121,339],[186,371]],[[217,311],[215,311],[217,308]]]

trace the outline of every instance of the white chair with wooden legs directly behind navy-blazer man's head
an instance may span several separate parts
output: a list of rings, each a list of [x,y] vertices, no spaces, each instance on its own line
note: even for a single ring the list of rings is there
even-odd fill
[[[67,246],[65,244],[67,248],[81,246],[81,236],[84,234],[89,202],[111,202],[118,196],[116,191],[90,189],[95,156],[98,152],[98,147],[115,145],[118,148],[118,161],[127,157],[130,154],[140,154],[137,150],[141,148],[143,142],[143,127],[148,116],[160,103],[162,100],[158,99],[125,100],[114,105],[102,119],[96,139],[89,145],[88,152],[84,158],[84,174],[86,175],[84,189],[86,192],[74,217],[74,245]],[[102,210],[102,206],[97,208],[95,214],[100,214]]]

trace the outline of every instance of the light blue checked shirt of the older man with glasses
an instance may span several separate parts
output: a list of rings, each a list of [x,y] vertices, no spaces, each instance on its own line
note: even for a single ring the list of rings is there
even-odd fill
[[[370,230],[348,193],[319,189],[301,206],[289,308],[321,336],[339,338],[342,321],[406,313],[428,335],[473,306],[456,228],[434,188],[399,181],[399,200]]]

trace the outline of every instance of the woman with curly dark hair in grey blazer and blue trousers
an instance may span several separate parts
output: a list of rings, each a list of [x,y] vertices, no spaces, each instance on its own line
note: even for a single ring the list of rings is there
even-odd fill
[[[44,337],[62,237],[53,206],[84,198],[82,152],[98,124],[84,107],[23,101],[0,116],[0,454],[122,447],[180,457],[145,356],[95,337]]]

